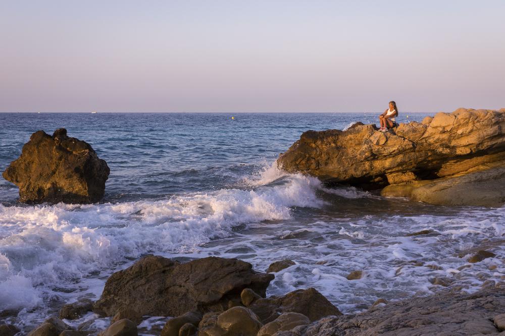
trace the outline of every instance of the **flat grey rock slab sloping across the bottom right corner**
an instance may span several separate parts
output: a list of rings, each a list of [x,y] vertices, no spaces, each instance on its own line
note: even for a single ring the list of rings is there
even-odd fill
[[[503,311],[503,290],[434,295],[388,303],[358,315],[324,318],[276,336],[498,334],[505,327]]]

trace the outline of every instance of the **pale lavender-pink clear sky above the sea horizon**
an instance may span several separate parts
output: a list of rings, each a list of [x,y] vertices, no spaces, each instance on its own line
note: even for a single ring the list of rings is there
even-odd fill
[[[0,112],[505,107],[505,1],[0,0]]]

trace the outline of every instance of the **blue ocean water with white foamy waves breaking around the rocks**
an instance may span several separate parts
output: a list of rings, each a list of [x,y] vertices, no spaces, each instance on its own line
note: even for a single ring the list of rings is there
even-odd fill
[[[377,114],[0,114],[2,171],[33,132],[60,127],[111,168],[105,198],[86,205],[19,204],[17,187],[0,179],[0,312],[14,311],[0,320],[27,331],[64,303],[97,299],[113,271],[148,253],[233,257],[258,270],[288,258],[296,264],[275,273],[268,295],[314,287],[344,313],[378,298],[500,282],[504,208],[330,189],[276,168],[278,154],[302,132],[357,121],[376,123]],[[421,230],[433,234],[406,237]],[[496,257],[469,264],[468,250],[480,247]],[[363,278],[348,281],[353,270]],[[435,277],[451,286],[432,285]],[[96,318],[68,322],[108,324]],[[147,320],[144,333],[164,321]]]

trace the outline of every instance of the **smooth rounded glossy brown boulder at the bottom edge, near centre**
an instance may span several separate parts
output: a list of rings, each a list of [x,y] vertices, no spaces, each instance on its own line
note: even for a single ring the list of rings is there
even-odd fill
[[[256,336],[263,324],[245,307],[233,307],[201,325],[199,336]]]

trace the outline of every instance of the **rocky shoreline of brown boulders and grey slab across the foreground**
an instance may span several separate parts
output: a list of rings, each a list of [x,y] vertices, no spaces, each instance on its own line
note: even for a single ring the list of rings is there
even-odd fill
[[[476,251],[468,262],[491,256],[492,252]],[[437,295],[394,302],[379,299],[365,312],[343,315],[314,288],[267,298],[275,272],[291,263],[274,262],[269,267],[274,273],[263,273],[238,259],[207,257],[180,263],[148,255],[113,273],[97,301],[64,305],[59,316],[48,317],[31,331],[0,324],[0,336],[447,335],[498,334],[505,329],[502,282],[484,283],[480,291],[469,294],[437,278],[433,282],[439,288]],[[355,271],[347,278],[360,277],[361,271]],[[93,318],[70,326],[86,314]],[[165,316],[163,328],[143,329],[142,322],[153,316]],[[97,328],[93,321],[103,317],[110,318],[110,325]]]

